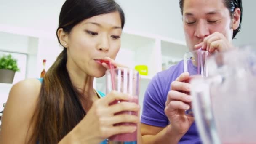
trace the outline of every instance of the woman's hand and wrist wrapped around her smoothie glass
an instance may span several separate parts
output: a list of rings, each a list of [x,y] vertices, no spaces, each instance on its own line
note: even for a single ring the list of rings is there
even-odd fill
[[[115,115],[123,111],[139,112],[138,104],[126,102],[131,99],[134,98],[127,94],[112,91],[104,98],[95,101],[83,120],[71,131],[72,141],[84,144],[99,144],[112,135],[136,131],[137,127],[134,125],[115,125],[117,123],[139,123],[138,115],[125,113]],[[122,102],[110,105],[115,100]]]

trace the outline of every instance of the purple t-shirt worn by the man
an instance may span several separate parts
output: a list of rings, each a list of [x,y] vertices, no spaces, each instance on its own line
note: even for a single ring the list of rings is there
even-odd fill
[[[188,64],[191,74],[197,73],[197,68],[190,62]],[[165,115],[165,101],[170,91],[171,82],[184,72],[184,63],[180,61],[173,67],[157,73],[150,81],[145,92],[143,101],[143,110],[141,115],[141,123],[153,125],[157,127],[166,127],[169,120]],[[195,122],[191,125],[187,133],[181,138],[179,144],[201,144],[199,134]]]

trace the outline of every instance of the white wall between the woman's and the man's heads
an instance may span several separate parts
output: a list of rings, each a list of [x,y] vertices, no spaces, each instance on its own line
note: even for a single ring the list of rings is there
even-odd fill
[[[125,28],[184,40],[178,0],[117,0],[126,15]]]

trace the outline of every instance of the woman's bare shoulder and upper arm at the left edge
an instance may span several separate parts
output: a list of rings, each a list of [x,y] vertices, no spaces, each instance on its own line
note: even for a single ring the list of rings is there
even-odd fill
[[[38,79],[22,80],[13,85],[3,112],[0,143],[24,143],[26,133],[37,106],[41,83]],[[29,130],[29,131],[28,131]],[[15,131],[15,133],[13,133]],[[16,139],[13,139],[15,137]]]

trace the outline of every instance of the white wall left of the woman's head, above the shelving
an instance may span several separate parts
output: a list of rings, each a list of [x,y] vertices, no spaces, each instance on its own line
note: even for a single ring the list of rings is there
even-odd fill
[[[64,0],[1,0],[0,24],[51,32],[55,36]]]

